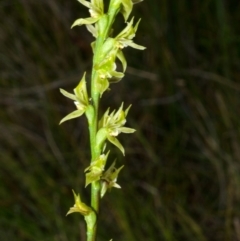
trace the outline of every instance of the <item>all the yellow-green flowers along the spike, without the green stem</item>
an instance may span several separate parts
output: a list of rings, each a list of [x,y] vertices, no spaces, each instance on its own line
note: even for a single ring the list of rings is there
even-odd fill
[[[124,77],[124,72],[127,67],[127,62],[122,52],[123,48],[128,46],[143,50],[145,47],[133,42],[136,31],[138,29],[139,21],[134,25],[134,18],[128,22],[129,15],[132,11],[134,3],[141,2],[142,0],[111,0],[107,13],[104,13],[103,0],[78,0],[81,4],[89,8],[90,17],[77,19],[72,27],[79,25],[86,25],[88,31],[96,38],[91,46],[94,54],[98,55],[97,63],[93,63],[94,71],[96,72],[96,89],[100,96],[109,89],[109,85],[113,82],[120,81]],[[117,9],[117,10],[116,10]],[[112,36],[112,30],[107,28],[108,24],[112,24],[116,14],[121,12],[126,22],[126,27],[115,37]],[[108,29],[108,30],[107,30]],[[108,33],[106,33],[108,31]],[[105,36],[103,45],[98,53],[95,52],[98,38]],[[116,60],[119,60],[122,65],[122,71],[116,70]],[[86,86],[86,73],[84,73],[78,86],[71,94],[63,89],[61,93],[74,101],[77,110],[65,116],[60,123],[67,120],[82,116],[84,113],[88,117],[93,109]],[[106,161],[109,155],[104,154],[106,140],[114,144],[124,155],[124,148],[117,139],[120,133],[133,133],[135,130],[125,127],[126,116],[130,106],[123,110],[123,104],[117,111],[109,113],[109,109],[103,114],[98,123],[98,131],[96,134],[96,146],[102,150],[101,155],[94,160],[89,167],[85,169],[86,172],[86,186],[92,182],[101,180],[101,197],[104,196],[108,189],[112,187],[120,188],[116,183],[118,174],[123,168],[115,168],[115,161],[108,168],[105,169]],[[69,213],[80,212],[87,216],[91,212],[91,208],[81,202],[80,196],[74,193],[75,205],[69,210]]]

